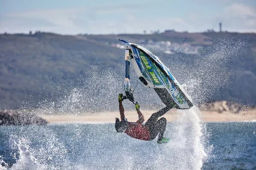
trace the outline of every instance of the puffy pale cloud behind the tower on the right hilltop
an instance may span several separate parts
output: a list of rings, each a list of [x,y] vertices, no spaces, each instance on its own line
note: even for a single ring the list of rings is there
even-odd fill
[[[186,14],[184,21],[190,25],[187,27],[190,32],[207,29],[218,31],[220,22],[224,31],[256,32],[256,8],[241,3],[232,3],[212,16],[196,11]]]

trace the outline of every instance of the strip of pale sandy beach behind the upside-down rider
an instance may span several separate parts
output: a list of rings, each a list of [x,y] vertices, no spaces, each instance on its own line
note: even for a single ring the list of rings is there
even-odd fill
[[[155,111],[141,111],[147,120]],[[181,111],[172,109],[164,115],[168,122],[174,122],[178,114]],[[43,119],[46,119],[49,123],[68,123],[68,122],[88,122],[88,123],[104,123],[115,122],[115,117],[120,118],[119,112],[102,112],[102,113],[84,113],[80,115],[40,115]],[[256,122],[256,109],[250,111],[241,111],[240,113],[230,113],[224,111],[222,113],[214,111],[200,111],[198,113],[199,118],[204,122]],[[136,122],[138,115],[136,111],[125,111],[125,117],[128,121]]]

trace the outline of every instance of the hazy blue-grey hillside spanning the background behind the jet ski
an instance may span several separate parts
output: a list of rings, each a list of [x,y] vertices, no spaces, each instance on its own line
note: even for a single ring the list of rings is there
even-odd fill
[[[106,107],[122,92],[124,49],[116,36],[156,54],[196,103],[256,103],[256,34],[64,36],[37,32],[0,35],[0,109],[42,103],[92,108],[90,101],[95,107],[107,103]],[[137,93],[138,99],[145,98],[139,95],[144,90],[138,88]]]

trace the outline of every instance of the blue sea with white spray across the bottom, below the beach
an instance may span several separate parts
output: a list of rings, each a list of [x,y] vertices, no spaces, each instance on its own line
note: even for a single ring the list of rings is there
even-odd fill
[[[165,136],[170,143],[140,141],[113,123],[1,126],[0,169],[256,169],[256,122],[201,122],[184,113]]]

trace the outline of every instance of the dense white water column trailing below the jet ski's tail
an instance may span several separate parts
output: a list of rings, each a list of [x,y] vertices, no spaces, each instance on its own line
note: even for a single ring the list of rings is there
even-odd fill
[[[189,110],[178,111],[177,132],[175,141],[178,164],[181,169],[199,170],[207,154],[204,150],[202,125],[198,114],[200,112],[193,107]]]

